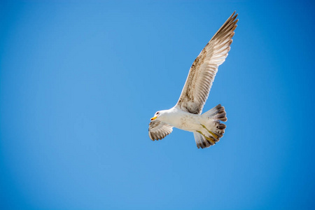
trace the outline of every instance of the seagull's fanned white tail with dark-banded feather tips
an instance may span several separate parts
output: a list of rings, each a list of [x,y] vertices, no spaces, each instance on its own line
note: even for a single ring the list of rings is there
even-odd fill
[[[226,112],[221,104],[218,104],[214,108],[210,109],[202,116],[205,118],[207,123],[202,124],[204,127],[203,131],[194,132],[195,141],[197,148],[207,148],[211,145],[216,144],[223,137],[226,125],[220,121],[227,121]]]

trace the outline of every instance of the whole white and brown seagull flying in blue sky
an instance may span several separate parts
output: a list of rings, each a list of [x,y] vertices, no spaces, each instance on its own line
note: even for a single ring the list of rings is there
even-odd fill
[[[177,104],[172,109],[156,112],[151,118],[148,129],[151,140],[165,138],[173,131],[173,127],[193,132],[197,148],[208,148],[223,137],[226,125],[221,121],[228,120],[224,106],[218,104],[201,113],[218,66],[223,64],[230,51],[238,22],[237,15],[232,13],[195,59]]]

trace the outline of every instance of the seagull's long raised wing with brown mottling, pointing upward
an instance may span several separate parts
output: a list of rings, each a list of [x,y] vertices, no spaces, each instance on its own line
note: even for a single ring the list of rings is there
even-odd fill
[[[225,61],[230,51],[234,30],[237,27],[236,18],[234,12],[193,62],[179,102],[176,104],[179,109],[194,114],[202,113],[218,66]]]

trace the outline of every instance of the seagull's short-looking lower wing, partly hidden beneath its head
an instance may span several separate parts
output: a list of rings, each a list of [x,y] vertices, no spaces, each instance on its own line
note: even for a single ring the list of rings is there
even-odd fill
[[[173,127],[160,120],[153,120],[149,124],[149,137],[152,141],[163,139],[168,134],[172,133]]]

